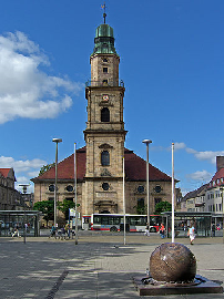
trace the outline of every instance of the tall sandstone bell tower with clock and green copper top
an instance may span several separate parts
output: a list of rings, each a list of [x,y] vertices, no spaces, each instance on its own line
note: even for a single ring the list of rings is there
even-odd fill
[[[119,79],[119,63],[113,29],[109,24],[101,24],[96,28],[94,49],[90,55],[91,81],[85,87],[85,214],[123,212],[125,89]]]

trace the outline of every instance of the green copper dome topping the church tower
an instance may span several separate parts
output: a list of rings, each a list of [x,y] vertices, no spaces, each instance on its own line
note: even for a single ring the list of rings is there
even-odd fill
[[[95,47],[93,54],[116,54],[114,48],[113,28],[109,24],[101,24],[95,30]]]

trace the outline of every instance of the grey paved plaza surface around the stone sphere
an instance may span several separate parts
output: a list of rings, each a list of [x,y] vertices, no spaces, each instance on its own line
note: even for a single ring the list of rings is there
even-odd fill
[[[149,298],[140,297],[132,278],[144,276],[152,251],[162,243],[157,234],[150,237],[128,234],[84,233],[74,239],[48,237],[0,238],[0,298]],[[197,260],[197,275],[223,286],[224,244],[220,237],[176,238],[186,245]],[[206,299],[215,295],[154,296],[150,298]]]

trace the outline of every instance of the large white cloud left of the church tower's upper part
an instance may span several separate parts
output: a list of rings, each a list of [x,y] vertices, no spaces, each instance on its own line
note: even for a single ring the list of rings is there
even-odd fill
[[[17,117],[52,118],[72,105],[83,84],[48,75],[49,60],[22,32],[0,35],[0,124]]]

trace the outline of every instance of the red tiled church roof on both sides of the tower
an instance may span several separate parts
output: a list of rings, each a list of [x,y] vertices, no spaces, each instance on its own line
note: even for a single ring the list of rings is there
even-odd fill
[[[77,178],[84,179],[85,176],[85,146],[77,150]],[[146,181],[146,162],[139,157],[133,151],[124,148],[124,167],[128,181]],[[150,181],[171,181],[171,177],[161,172],[153,165],[150,167]],[[32,178],[31,181],[38,183],[39,181],[52,181],[55,176],[55,167],[50,168],[44,174]],[[58,181],[74,179],[74,154],[67,157],[58,164]]]

